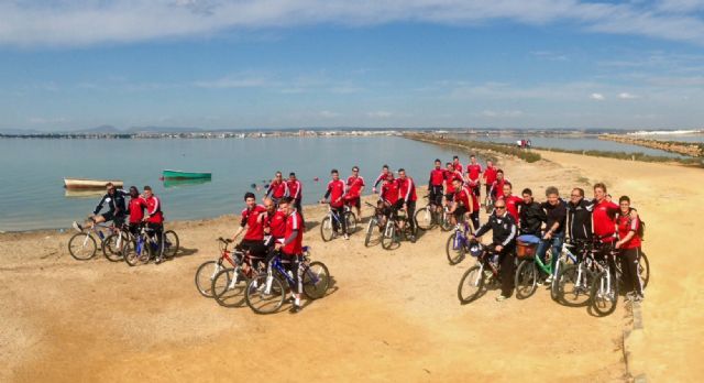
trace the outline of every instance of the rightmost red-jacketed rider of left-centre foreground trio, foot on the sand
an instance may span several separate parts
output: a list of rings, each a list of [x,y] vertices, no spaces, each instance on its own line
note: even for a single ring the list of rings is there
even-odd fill
[[[286,230],[283,243],[276,243],[276,250],[282,252],[282,264],[287,271],[294,274],[294,284],[292,292],[294,294],[294,305],[290,308],[292,314],[301,310],[300,294],[304,292],[304,282],[300,265],[304,262],[304,228],[301,226],[300,215],[296,211],[294,204],[289,204],[286,199]]]

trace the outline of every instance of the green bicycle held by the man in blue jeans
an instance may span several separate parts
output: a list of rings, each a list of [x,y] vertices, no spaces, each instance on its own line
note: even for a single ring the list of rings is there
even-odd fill
[[[518,245],[520,248],[520,244]],[[549,262],[547,264],[542,263],[540,256],[535,256],[535,250],[537,244],[532,245],[532,253],[528,251],[527,256],[521,256],[520,254],[525,250],[518,250],[518,259],[521,260],[518,264],[518,269],[516,269],[515,276],[515,286],[516,286],[516,298],[525,299],[530,297],[536,293],[538,288],[538,283],[544,280],[546,275],[551,275],[552,281],[550,283],[550,297],[553,300],[558,300],[558,273],[560,269],[568,264],[569,261],[572,264],[576,264],[576,255],[574,255],[570,248],[574,245],[569,244],[566,242],[562,243],[562,249],[560,254],[552,254],[552,248],[550,248],[550,256],[546,256]],[[552,270],[552,256],[559,256],[556,262],[556,267]]]

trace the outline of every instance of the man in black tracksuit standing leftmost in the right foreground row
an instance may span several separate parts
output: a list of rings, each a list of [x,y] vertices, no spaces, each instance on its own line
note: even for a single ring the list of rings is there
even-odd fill
[[[516,248],[517,227],[514,217],[506,211],[506,201],[503,199],[494,203],[494,212],[488,217],[472,239],[481,238],[492,230],[492,247],[498,253],[501,264],[502,295],[497,302],[508,299],[514,291],[514,269],[516,267],[514,250]]]

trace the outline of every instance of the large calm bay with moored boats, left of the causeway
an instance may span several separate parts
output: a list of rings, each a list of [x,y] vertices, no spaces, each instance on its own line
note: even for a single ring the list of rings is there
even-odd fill
[[[167,220],[217,217],[242,209],[242,197],[278,169],[297,173],[304,203],[324,194],[332,167],[353,165],[371,183],[385,163],[427,183],[436,157],[454,153],[402,138],[282,138],[229,140],[0,140],[0,230],[67,228],[92,211],[100,195],[65,196],[64,177],[117,178],[125,188],[151,185]],[[463,160],[466,162],[466,158]],[[164,187],[165,168],[212,172],[212,182]],[[319,182],[314,178],[319,177]],[[258,192],[262,195],[263,192]]]

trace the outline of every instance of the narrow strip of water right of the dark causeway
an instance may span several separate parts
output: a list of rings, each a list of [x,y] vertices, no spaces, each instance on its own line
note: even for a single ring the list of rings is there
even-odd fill
[[[468,134],[458,134],[460,139],[474,140],[474,141],[486,141],[486,142],[499,142],[499,143],[510,143],[515,144],[518,140],[527,140],[529,139],[532,142],[532,145],[536,147],[556,147],[556,149],[564,149],[564,150],[598,150],[598,151],[609,151],[609,152],[625,152],[625,153],[645,153],[650,155],[660,155],[668,157],[682,157],[682,155],[676,153],[670,153],[657,149],[642,147],[638,145],[624,144],[620,142],[605,141],[598,140],[596,138],[554,138],[554,136],[519,136],[519,135],[468,135]]]

